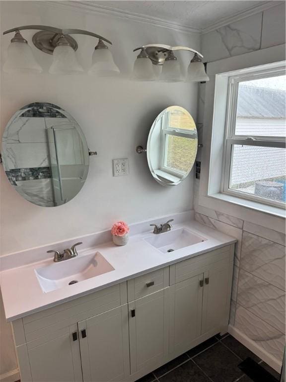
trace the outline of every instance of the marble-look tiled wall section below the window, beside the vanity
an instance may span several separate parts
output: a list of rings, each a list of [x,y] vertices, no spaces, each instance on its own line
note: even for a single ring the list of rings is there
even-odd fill
[[[211,214],[216,218],[198,212],[195,217],[238,240],[229,323],[281,361],[285,345],[286,235],[217,211],[211,210]]]

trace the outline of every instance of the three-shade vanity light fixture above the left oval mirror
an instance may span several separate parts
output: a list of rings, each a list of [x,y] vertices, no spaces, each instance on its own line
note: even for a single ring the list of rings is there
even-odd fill
[[[33,44],[42,52],[53,54],[53,63],[49,69],[51,74],[77,74],[83,72],[78,63],[75,51],[77,42],[71,34],[84,34],[99,39],[92,56],[92,65],[89,74],[100,77],[109,77],[119,74],[120,71],[114,63],[112,53],[103,41],[112,44],[106,38],[82,29],[59,29],[46,25],[25,25],[8,29],[3,34],[15,32],[8,47],[8,57],[4,63],[3,70],[8,73],[41,73],[43,69],[35,60],[32,49],[27,41],[21,36],[20,30],[38,29],[33,35]]]

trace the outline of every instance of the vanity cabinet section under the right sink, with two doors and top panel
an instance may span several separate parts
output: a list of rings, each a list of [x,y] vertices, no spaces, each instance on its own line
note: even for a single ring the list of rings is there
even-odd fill
[[[227,331],[233,252],[227,246],[170,266],[171,358]]]

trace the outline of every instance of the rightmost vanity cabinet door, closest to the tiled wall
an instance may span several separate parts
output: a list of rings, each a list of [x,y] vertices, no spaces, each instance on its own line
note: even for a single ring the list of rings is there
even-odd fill
[[[202,334],[225,325],[229,306],[229,262],[212,264],[204,273]]]

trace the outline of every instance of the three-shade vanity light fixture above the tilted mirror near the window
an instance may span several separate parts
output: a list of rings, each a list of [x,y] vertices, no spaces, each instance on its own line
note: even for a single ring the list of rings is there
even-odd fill
[[[192,48],[187,46],[170,46],[164,44],[148,44],[142,45],[134,49],[137,51],[141,49],[140,55],[137,57],[137,60],[134,64],[133,78],[138,80],[139,77],[141,81],[151,81],[155,77],[154,68],[156,66],[161,66],[162,71],[159,75],[159,81],[162,82],[179,82],[183,81],[181,66],[177,57],[175,56],[175,51],[177,50],[187,50],[194,53],[194,57],[190,62],[188,68],[188,75],[186,81],[190,82],[202,82],[209,81],[209,77],[206,74],[204,63],[202,62],[203,55]],[[140,58],[144,58],[146,63],[143,65],[143,62],[138,70],[137,63]],[[146,59],[149,59],[147,61]],[[152,71],[150,70],[149,63],[152,63]],[[192,64],[192,65],[191,65]],[[140,76],[138,75],[138,72]]]

